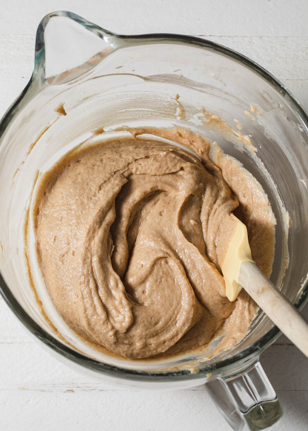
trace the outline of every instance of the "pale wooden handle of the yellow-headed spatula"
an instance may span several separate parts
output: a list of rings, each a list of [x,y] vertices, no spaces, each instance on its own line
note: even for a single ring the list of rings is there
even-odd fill
[[[289,340],[308,357],[308,323],[254,263],[241,263],[239,284]]]

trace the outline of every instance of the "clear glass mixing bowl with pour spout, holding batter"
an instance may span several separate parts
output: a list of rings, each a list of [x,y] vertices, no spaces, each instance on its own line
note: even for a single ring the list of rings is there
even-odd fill
[[[202,122],[202,108],[229,125],[239,120],[258,152]],[[264,187],[277,219],[271,280],[296,307],[305,303],[308,118],[299,103],[260,66],[220,45],[173,34],[113,34],[71,12],[41,21],[33,75],[0,123],[1,294],[25,327],[70,367],[127,387],[205,384],[233,429],[245,423],[251,430],[266,428],[282,410],[258,358],[280,332],[261,311],[236,347],[198,365],[196,357],[151,364],[112,358],[83,343],[57,315],[35,269],[31,229],[25,259],[24,219],[38,171],[91,131],[116,133],[111,129],[123,125],[190,128],[239,159]]]

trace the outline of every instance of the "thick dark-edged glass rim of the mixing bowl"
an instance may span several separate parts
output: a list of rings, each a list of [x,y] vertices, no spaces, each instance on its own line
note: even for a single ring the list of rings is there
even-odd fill
[[[91,28],[88,27],[88,22],[84,20],[82,17],[79,17],[72,12],[53,12],[53,14],[47,15],[50,18],[55,15],[67,16],[68,18],[74,19],[76,22],[79,22],[81,25],[85,25],[87,23],[88,30],[92,31]],[[42,20],[42,22],[44,21]],[[41,22],[41,23],[42,23]],[[41,26],[41,24],[40,24]],[[38,31],[40,30],[40,26]],[[112,34],[101,27],[93,25],[95,27],[95,31],[102,31],[104,34]],[[43,29],[44,30],[44,29]],[[267,70],[259,66],[257,63],[248,59],[236,51],[233,51],[227,47],[216,44],[212,41],[207,41],[206,39],[201,39],[198,37],[185,36],[179,34],[142,34],[137,36],[125,36],[125,35],[115,35],[118,39],[125,39],[126,41],[131,41],[132,45],[138,44],[153,44],[153,43],[174,43],[174,44],[185,44],[190,46],[197,46],[207,50],[214,50],[220,54],[228,56],[242,64],[244,64],[251,71],[258,73],[262,78],[264,78],[275,90],[277,90],[280,95],[282,95],[286,102],[292,107],[295,114],[299,117],[302,124],[308,130],[308,116],[300,103],[293,97],[293,95],[283,86],[280,81],[278,81],[273,75],[271,75]],[[125,46],[129,46],[129,44],[125,44]],[[4,133],[4,131],[9,126],[12,118],[16,115],[18,110],[18,105],[22,100],[25,93],[30,88],[31,84],[34,82],[34,75],[32,75],[28,85],[25,87],[24,91],[20,94],[20,96],[15,100],[15,102],[9,107],[3,116],[0,122],[0,140]],[[273,326],[266,334],[264,334],[260,339],[258,339],[251,346],[241,350],[239,353],[230,356],[227,359],[219,360],[217,362],[206,365],[198,371],[197,374],[192,374],[189,369],[185,370],[174,370],[174,371],[142,371],[135,369],[126,369],[122,367],[117,367],[114,365],[109,365],[103,362],[99,362],[95,359],[91,359],[82,353],[78,353],[70,347],[64,345],[56,338],[52,337],[48,334],[43,328],[41,328],[29,315],[28,313],[20,306],[19,302],[14,297],[13,293],[7,286],[6,282],[3,279],[2,274],[0,273],[0,293],[4,298],[6,304],[13,311],[13,313],[18,317],[18,319],[25,325],[25,327],[30,331],[35,337],[37,337],[41,342],[43,342],[47,347],[50,347],[54,352],[64,356],[66,359],[69,359],[72,362],[75,362],[78,365],[86,369],[90,369],[95,372],[99,372],[103,375],[108,375],[110,377],[122,378],[130,381],[144,381],[144,382],[175,382],[175,381],[187,381],[187,380],[200,380],[204,378],[204,381],[207,380],[209,375],[217,376],[225,374],[228,371],[229,375],[233,374],[233,370],[235,369],[243,369],[245,366],[254,360],[258,360],[260,354],[270,345],[272,344],[281,334],[280,330],[277,326]],[[294,305],[297,308],[301,308],[305,301],[308,299],[308,282],[302,287],[300,294],[296,297],[294,301]],[[236,364],[240,362],[237,366]],[[228,370],[226,370],[228,367]]]

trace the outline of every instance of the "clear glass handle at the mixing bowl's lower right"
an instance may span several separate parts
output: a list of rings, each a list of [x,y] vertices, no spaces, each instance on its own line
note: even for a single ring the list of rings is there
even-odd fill
[[[277,422],[283,410],[260,362],[245,372],[218,378],[205,389],[231,428],[263,430]]]

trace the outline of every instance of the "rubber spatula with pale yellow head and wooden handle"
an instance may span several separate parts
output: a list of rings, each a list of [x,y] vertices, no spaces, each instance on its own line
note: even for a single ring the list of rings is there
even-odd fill
[[[233,214],[236,228],[221,270],[226,296],[234,301],[242,287],[296,347],[308,356],[308,323],[251,259],[246,226]]]

